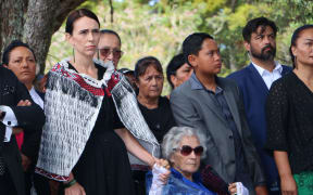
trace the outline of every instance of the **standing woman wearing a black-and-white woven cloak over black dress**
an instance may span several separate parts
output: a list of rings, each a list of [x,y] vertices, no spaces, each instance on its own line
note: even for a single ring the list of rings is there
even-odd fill
[[[155,159],[117,116],[112,89],[123,76],[112,63],[92,60],[99,27],[98,17],[86,9],[67,17],[66,40],[73,57],[49,72],[47,120],[36,171],[64,182],[65,194],[132,195],[126,148],[149,166]]]

